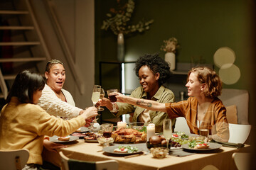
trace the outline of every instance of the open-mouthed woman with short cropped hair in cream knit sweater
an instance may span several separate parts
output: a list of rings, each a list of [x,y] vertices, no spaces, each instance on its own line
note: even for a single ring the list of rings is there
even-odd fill
[[[75,118],[86,112],[75,106],[75,101],[70,92],[63,89],[65,84],[65,68],[60,60],[50,60],[46,64],[46,86],[43,88],[42,96],[38,105],[50,115],[63,118]]]

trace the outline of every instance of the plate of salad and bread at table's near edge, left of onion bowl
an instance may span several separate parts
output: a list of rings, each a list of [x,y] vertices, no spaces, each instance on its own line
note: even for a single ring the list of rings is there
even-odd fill
[[[142,152],[142,148],[133,145],[114,145],[104,147],[102,150],[109,154],[137,154]]]

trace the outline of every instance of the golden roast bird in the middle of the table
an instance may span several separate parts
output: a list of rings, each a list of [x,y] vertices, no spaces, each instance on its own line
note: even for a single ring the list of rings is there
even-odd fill
[[[121,128],[112,132],[114,143],[141,143],[146,142],[146,132],[139,132],[132,128]]]

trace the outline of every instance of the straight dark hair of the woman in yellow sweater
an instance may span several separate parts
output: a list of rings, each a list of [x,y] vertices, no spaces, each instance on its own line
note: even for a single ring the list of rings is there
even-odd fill
[[[43,90],[45,82],[40,74],[24,70],[17,74],[14,84],[6,99],[6,103],[11,101],[11,97],[16,96],[21,103],[33,103],[33,92]]]

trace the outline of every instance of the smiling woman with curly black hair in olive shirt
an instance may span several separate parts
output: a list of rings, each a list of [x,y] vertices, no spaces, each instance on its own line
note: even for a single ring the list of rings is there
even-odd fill
[[[141,86],[132,91],[131,97],[149,99],[159,103],[174,102],[174,93],[163,85],[171,76],[170,67],[158,54],[139,57],[134,71],[139,77]],[[100,106],[106,106],[112,111],[112,103],[109,99],[103,98],[99,103]],[[149,111],[128,103],[117,102],[116,107],[119,111],[114,113],[115,116],[134,113],[132,122],[154,123],[156,132],[162,132],[163,120],[168,117],[165,112]],[[175,124],[175,119],[172,123]]]

